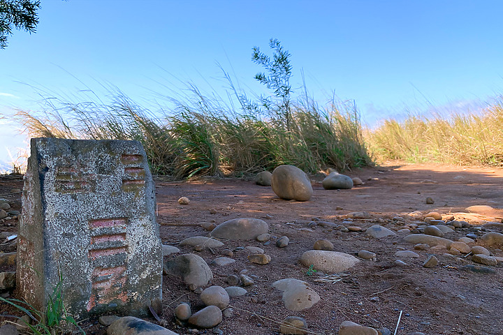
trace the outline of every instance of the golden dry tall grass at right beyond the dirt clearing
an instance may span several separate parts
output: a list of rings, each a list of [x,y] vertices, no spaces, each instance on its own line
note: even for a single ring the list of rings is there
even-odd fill
[[[503,105],[500,101],[480,113],[448,118],[387,120],[367,131],[365,140],[379,161],[503,165]]]

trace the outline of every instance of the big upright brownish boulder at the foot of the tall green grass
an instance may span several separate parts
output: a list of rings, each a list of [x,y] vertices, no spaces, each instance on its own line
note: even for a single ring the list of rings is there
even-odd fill
[[[312,197],[311,181],[293,165],[279,165],[272,172],[272,191],[285,200],[307,201]]]

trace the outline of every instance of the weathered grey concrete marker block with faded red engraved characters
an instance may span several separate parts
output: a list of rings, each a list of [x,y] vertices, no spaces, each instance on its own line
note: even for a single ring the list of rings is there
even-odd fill
[[[146,315],[161,305],[152,174],[136,141],[31,139],[17,288],[36,308],[62,278],[66,311]]]

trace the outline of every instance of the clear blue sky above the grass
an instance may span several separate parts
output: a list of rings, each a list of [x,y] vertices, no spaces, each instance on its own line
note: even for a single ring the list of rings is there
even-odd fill
[[[434,106],[472,109],[503,91],[503,1],[41,0],[36,34],[0,50],[0,113],[38,110],[38,93],[85,99],[117,87],[140,105],[182,82],[223,94],[217,63],[246,90],[261,70],[251,48],[278,38],[293,87],[323,103],[354,99],[363,121]],[[300,92],[299,92],[300,93]],[[161,102],[162,104],[162,102]],[[0,122],[0,161],[23,147]]]

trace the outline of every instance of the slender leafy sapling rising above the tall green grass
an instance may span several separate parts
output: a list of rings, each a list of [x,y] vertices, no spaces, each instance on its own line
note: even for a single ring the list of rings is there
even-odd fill
[[[279,99],[279,103],[277,103],[275,107],[272,107],[270,99],[261,96],[261,104],[268,112],[274,110],[277,116],[284,119],[286,121],[286,130],[290,131],[290,94],[292,93],[290,84],[292,70],[289,59],[290,54],[283,49],[279,40],[275,38],[270,39],[269,46],[274,50],[272,59],[261,52],[258,47],[253,48],[253,56],[251,59],[256,64],[263,66],[267,71],[267,74],[257,73],[255,79],[265,84],[268,89],[272,89],[276,98]]]

